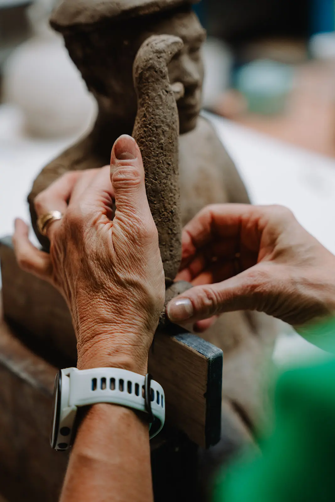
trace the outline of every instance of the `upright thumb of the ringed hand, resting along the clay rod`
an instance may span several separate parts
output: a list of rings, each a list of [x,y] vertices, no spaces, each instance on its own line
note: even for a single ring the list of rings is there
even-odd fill
[[[147,217],[149,209],[144,182],[144,167],[136,141],[120,136],[110,156],[110,180],[113,185],[116,217]]]

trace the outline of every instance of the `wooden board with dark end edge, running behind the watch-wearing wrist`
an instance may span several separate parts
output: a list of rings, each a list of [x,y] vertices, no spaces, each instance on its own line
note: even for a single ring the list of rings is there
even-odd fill
[[[65,301],[18,267],[11,238],[0,241],[5,318],[27,331],[25,343],[58,367],[75,364],[76,341]],[[156,333],[149,371],[164,388],[166,422],[202,447],[220,437],[222,351],[172,326]],[[173,333],[171,335],[171,333]]]

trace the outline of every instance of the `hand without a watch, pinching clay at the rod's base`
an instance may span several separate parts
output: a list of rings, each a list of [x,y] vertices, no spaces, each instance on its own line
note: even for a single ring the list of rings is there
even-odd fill
[[[175,323],[258,310],[300,326],[335,311],[335,257],[284,207],[208,206],[182,242],[176,280],[195,287],[168,304]]]

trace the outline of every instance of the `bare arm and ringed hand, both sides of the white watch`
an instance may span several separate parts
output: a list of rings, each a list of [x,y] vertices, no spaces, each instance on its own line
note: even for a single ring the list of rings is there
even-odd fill
[[[113,213],[113,205],[117,207]],[[63,294],[77,336],[78,369],[119,367],[146,374],[165,282],[141,153],[127,136],[110,168],[67,174],[35,199],[37,215],[63,213],[47,228],[50,254],[18,220],[19,264]],[[82,418],[61,502],[153,500],[149,431],[134,411],[97,404]]]

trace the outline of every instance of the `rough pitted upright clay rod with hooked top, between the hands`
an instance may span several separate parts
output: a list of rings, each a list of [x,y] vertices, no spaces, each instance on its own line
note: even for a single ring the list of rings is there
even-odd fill
[[[179,118],[167,65],[182,46],[180,38],[153,35],[143,43],[134,62],[138,112],[133,137],[142,153],[146,192],[167,280],[176,277],[181,260]]]

